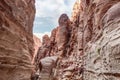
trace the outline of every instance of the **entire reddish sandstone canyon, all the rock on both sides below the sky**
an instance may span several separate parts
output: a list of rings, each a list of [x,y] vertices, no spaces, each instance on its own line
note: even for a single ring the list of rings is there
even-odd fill
[[[0,80],[120,80],[120,0],[76,0],[41,40],[35,2],[0,0]]]

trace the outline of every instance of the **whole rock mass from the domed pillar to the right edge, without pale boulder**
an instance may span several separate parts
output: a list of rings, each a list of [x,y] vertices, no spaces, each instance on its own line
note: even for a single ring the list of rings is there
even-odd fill
[[[56,80],[120,79],[119,6],[120,0],[77,0],[72,22],[60,16],[47,50],[59,57]]]

